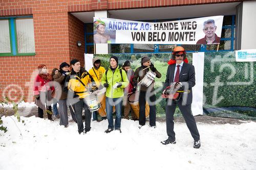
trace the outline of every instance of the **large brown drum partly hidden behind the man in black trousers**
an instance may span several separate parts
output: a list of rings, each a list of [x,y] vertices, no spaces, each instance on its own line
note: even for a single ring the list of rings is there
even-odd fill
[[[128,97],[129,104],[131,108],[133,109],[133,112],[135,113],[136,117],[139,118],[139,111],[140,111],[140,106],[139,106],[139,93],[133,93]],[[145,115],[148,117],[150,115],[150,106],[146,102],[146,107],[145,107]]]

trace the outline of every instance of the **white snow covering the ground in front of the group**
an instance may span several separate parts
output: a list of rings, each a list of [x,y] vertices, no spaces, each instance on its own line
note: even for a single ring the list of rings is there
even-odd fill
[[[175,124],[176,144],[162,145],[165,123],[138,128],[138,121],[122,119],[121,129],[104,133],[108,120],[92,122],[92,130],[79,135],[35,116],[3,117],[8,132],[0,131],[0,169],[255,169],[256,123],[198,124],[201,148],[193,148],[185,124]],[[22,132],[20,132],[15,126]]]

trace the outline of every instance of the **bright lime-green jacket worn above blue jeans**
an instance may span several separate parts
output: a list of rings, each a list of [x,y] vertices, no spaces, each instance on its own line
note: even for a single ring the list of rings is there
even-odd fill
[[[120,70],[122,70],[122,77],[123,77],[123,82],[122,82],[122,77],[120,75]],[[106,83],[106,79],[108,79],[108,84],[109,87],[106,88],[106,97],[108,98],[122,98],[123,97],[123,88],[127,87],[129,84],[129,81],[127,79],[126,73],[122,68],[119,68],[119,66],[117,66],[117,68],[115,69],[115,71],[113,72],[110,67],[107,69],[107,75],[103,74],[102,79],[101,79],[101,84],[103,85],[104,83]],[[113,89],[113,86],[117,83],[121,83],[122,86],[118,87],[116,89]]]

